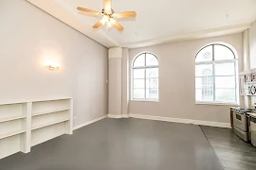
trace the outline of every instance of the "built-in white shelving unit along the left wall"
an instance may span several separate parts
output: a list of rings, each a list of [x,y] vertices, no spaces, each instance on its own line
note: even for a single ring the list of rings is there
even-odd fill
[[[0,159],[73,130],[72,98],[0,104]]]

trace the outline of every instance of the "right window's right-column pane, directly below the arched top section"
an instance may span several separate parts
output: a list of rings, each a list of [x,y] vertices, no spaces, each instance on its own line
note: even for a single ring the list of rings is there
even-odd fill
[[[215,64],[215,76],[234,76],[234,75],[235,75],[234,62]]]

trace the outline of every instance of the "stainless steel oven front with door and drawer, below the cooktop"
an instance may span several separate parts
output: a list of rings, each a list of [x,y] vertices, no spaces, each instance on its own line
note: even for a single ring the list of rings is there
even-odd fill
[[[247,142],[247,113],[245,110],[233,110],[233,124],[235,134]]]

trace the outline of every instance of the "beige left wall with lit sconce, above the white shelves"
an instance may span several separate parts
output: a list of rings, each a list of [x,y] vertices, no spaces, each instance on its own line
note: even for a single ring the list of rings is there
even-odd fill
[[[107,113],[105,47],[25,0],[1,0],[0,22],[0,103],[70,96],[75,126]]]

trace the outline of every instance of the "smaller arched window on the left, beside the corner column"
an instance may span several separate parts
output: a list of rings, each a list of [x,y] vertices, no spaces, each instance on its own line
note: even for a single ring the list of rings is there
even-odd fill
[[[158,60],[152,53],[141,53],[132,63],[132,98],[158,100]]]

